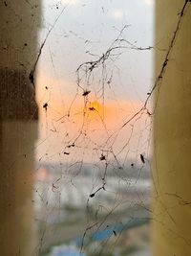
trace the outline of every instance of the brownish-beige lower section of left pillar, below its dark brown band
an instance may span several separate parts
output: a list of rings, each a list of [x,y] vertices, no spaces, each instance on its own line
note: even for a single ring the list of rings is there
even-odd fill
[[[1,134],[0,255],[30,256],[37,245],[32,200],[37,123],[4,121]]]

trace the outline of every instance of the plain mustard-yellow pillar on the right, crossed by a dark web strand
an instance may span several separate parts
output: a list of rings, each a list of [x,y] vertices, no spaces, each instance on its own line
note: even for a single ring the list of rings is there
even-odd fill
[[[184,6],[185,5],[185,6]],[[183,11],[183,12],[182,12]],[[180,27],[177,30],[178,22]],[[176,32],[177,30],[177,32]],[[175,40],[172,46],[172,38]],[[191,3],[156,1],[153,255],[191,255]],[[165,51],[163,51],[165,49]]]

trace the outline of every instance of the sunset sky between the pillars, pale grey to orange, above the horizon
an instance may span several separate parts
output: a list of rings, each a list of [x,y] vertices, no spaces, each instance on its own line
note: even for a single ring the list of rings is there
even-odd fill
[[[38,65],[37,157],[93,161],[111,149],[121,151],[122,158],[138,151],[146,154],[148,118],[120,128],[143,105],[152,84],[152,51],[130,48],[153,45],[154,1],[44,0],[40,42],[64,7]],[[82,63],[118,46],[122,48],[112,51],[92,72],[85,65],[76,72]],[[68,146],[73,143],[76,147],[71,151]]]

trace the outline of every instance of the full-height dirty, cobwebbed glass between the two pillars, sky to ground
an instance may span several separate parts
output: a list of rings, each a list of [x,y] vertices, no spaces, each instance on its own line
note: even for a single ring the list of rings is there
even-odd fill
[[[40,255],[150,255],[153,1],[44,1]]]

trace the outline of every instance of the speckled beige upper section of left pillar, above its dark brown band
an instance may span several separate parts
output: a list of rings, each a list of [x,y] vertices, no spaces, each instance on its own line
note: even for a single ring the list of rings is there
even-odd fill
[[[31,70],[36,57],[40,5],[40,0],[0,2],[0,68]]]

